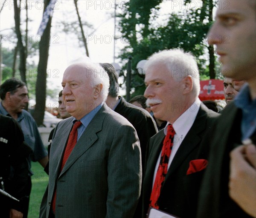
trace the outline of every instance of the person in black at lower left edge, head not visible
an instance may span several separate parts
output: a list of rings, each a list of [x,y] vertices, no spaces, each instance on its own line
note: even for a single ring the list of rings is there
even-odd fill
[[[0,114],[0,189],[15,201],[0,193],[0,217],[22,218],[27,210],[29,180],[27,157],[32,149],[24,143],[23,133],[13,118]]]

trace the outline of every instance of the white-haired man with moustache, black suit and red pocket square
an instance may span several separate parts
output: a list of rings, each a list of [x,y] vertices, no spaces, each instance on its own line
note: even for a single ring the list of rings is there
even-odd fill
[[[181,218],[195,217],[198,190],[207,160],[201,140],[217,113],[199,100],[195,58],[180,49],[149,57],[144,96],[167,126],[148,142],[143,180],[143,217],[149,207]],[[201,149],[202,148],[202,149]]]

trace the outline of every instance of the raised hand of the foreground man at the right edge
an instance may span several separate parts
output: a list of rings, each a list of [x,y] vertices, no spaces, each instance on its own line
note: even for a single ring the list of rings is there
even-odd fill
[[[256,146],[239,146],[233,149],[230,158],[230,197],[256,218]]]

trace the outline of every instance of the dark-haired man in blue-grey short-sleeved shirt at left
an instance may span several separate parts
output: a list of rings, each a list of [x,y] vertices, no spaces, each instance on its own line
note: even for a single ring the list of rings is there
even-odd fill
[[[41,135],[34,118],[32,118],[29,112],[24,110],[26,104],[29,102],[26,83],[23,83],[16,78],[6,80],[0,86],[0,98],[2,99],[2,102],[0,103],[0,114],[11,116],[17,120],[22,129],[25,142],[33,151],[32,155],[28,158],[29,180],[27,182],[26,192],[29,196],[32,187],[30,177],[33,174],[31,171],[31,161],[38,161],[45,168],[49,160],[47,151],[41,140]],[[23,218],[27,217],[29,201],[27,202],[26,207],[27,211],[23,213]]]

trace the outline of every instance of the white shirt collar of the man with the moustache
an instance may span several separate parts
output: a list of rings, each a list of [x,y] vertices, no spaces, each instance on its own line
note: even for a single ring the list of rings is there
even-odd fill
[[[172,124],[175,134],[178,138],[185,138],[186,134],[189,132],[189,129],[192,127],[195,118],[198,114],[200,105],[202,104],[201,100],[197,98],[195,102],[187,109],[182,115],[180,115],[177,120]],[[166,127],[164,128],[164,134],[167,133],[167,125],[170,124],[167,122]]]

